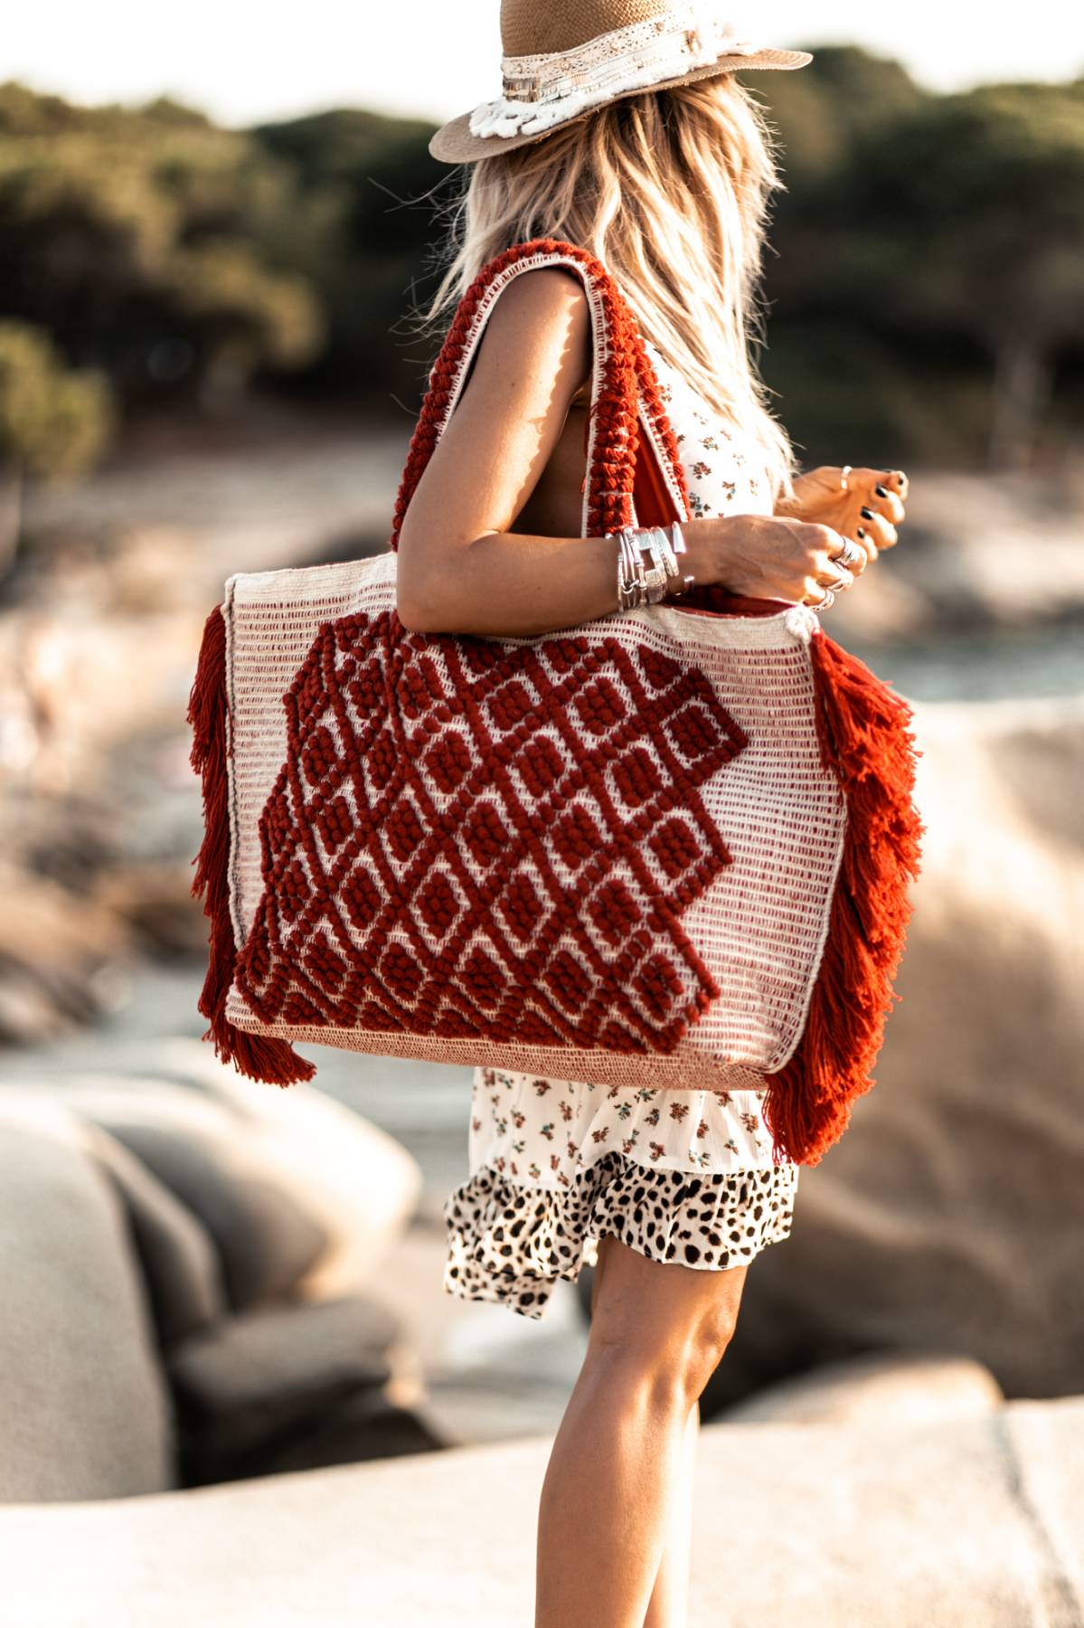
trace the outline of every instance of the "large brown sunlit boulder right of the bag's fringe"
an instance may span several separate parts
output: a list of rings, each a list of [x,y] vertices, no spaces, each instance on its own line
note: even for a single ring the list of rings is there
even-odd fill
[[[1084,1389],[1084,700],[916,726],[924,869],[877,1084],[752,1265],[710,1408],[885,1348]]]

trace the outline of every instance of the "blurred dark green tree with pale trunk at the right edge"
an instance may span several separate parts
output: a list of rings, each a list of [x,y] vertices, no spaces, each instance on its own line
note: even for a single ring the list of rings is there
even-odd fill
[[[986,461],[1025,467],[1058,357],[1084,340],[1084,98],[1050,85],[938,98],[858,143],[851,174],[871,287],[990,353]]]

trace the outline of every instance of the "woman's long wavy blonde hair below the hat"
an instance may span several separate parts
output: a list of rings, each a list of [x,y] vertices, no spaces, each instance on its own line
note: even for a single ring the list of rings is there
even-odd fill
[[[775,132],[732,73],[640,91],[544,142],[482,158],[444,205],[446,269],[423,313],[449,313],[493,256],[562,238],[617,278],[641,332],[752,443],[770,492],[796,457],[750,348],[763,344],[762,254]]]

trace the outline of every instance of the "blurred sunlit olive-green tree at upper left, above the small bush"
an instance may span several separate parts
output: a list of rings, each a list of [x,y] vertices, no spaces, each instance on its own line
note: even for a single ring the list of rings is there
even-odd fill
[[[78,109],[0,86],[0,313],[103,368],[120,404],[203,404],[326,342],[317,287],[273,247],[329,230],[288,164],[168,99]]]

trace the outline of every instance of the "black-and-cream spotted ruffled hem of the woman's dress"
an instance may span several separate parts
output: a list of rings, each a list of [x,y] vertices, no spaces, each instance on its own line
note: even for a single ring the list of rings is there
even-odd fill
[[[565,1187],[527,1187],[483,1164],[444,1200],[444,1291],[540,1317],[560,1278],[596,1263],[607,1232],[649,1260],[747,1265],[789,1234],[798,1172],[776,1164],[688,1175],[610,1151]]]

